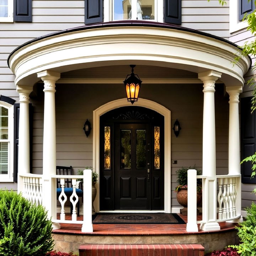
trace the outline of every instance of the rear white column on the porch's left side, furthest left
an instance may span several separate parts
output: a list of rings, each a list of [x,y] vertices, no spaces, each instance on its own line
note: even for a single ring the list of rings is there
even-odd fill
[[[19,147],[18,147],[18,173],[30,173],[30,134],[29,134],[29,94],[32,87],[18,86],[20,95],[20,119],[19,119]],[[22,178],[18,177],[18,192],[22,192]]]

